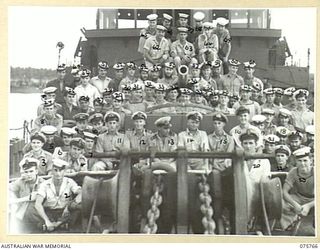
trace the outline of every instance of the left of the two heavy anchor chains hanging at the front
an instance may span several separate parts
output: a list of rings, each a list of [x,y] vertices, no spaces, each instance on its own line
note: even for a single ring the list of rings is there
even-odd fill
[[[153,185],[154,193],[150,198],[150,209],[147,212],[148,223],[145,225],[143,229],[143,233],[156,234],[158,231],[158,225],[156,221],[160,217],[159,206],[162,204],[162,195],[160,194],[162,191],[163,191],[162,176],[158,175]]]

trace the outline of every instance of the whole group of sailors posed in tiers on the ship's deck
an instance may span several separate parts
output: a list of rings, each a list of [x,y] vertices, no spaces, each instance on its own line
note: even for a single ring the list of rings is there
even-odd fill
[[[21,178],[10,183],[12,225],[34,232],[75,223],[81,210],[81,187],[64,174],[116,170],[119,159],[92,155],[124,149],[172,152],[184,147],[191,152],[273,154],[271,160],[245,161],[252,197],[249,207],[259,197],[261,180],[272,172],[288,172],[279,226],[290,228],[298,216],[313,211],[314,113],[307,105],[308,90],[264,86],[254,76],[253,60],[243,63],[245,76],[238,75],[242,63],[228,59],[228,20],[218,18],[215,27],[196,15],[198,26],[191,43],[187,18],[180,13],[180,27],[173,30],[167,25],[172,20],[169,15],[163,15],[162,25],[157,25],[155,14],[148,16],[149,27],[141,33],[145,41],[139,42],[145,64],[116,63],[114,78],[107,76],[105,61],[99,62],[98,75],[93,77],[90,70],[73,67],[72,82],[65,81],[66,66],[58,66],[57,79],[48,82],[41,94],[30,143],[19,164]],[[188,74],[181,74],[181,65]],[[158,116],[154,126],[148,125],[150,114]],[[186,117],[186,124],[175,133],[171,127],[177,114]],[[226,131],[230,116],[237,117],[237,124]],[[201,130],[208,117],[209,127]],[[224,176],[230,175],[232,162],[189,158],[187,165]],[[139,158],[132,162],[133,174],[142,175],[152,166],[172,171],[177,167],[175,158]],[[42,177],[48,175],[52,177]],[[250,220],[254,216],[249,213]]]

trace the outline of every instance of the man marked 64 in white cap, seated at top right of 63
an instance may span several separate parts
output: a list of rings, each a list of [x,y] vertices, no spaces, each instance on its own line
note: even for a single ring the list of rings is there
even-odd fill
[[[204,22],[203,25],[203,33],[198,37],[198,49],[199,55],[198,60],[199,63],[203,63],[206,61],[215,61],[218,59],[218,37],[213,32],[213,23]]]

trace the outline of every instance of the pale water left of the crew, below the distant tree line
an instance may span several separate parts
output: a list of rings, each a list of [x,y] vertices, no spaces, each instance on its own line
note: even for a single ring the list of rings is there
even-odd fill
[[[41,104],[39,93],[9,94],[9,129],[21,128],[24,120],[30,122],[37,117],[37,108]],[[9,139],[23,138],[23,129],[9,130]]]

